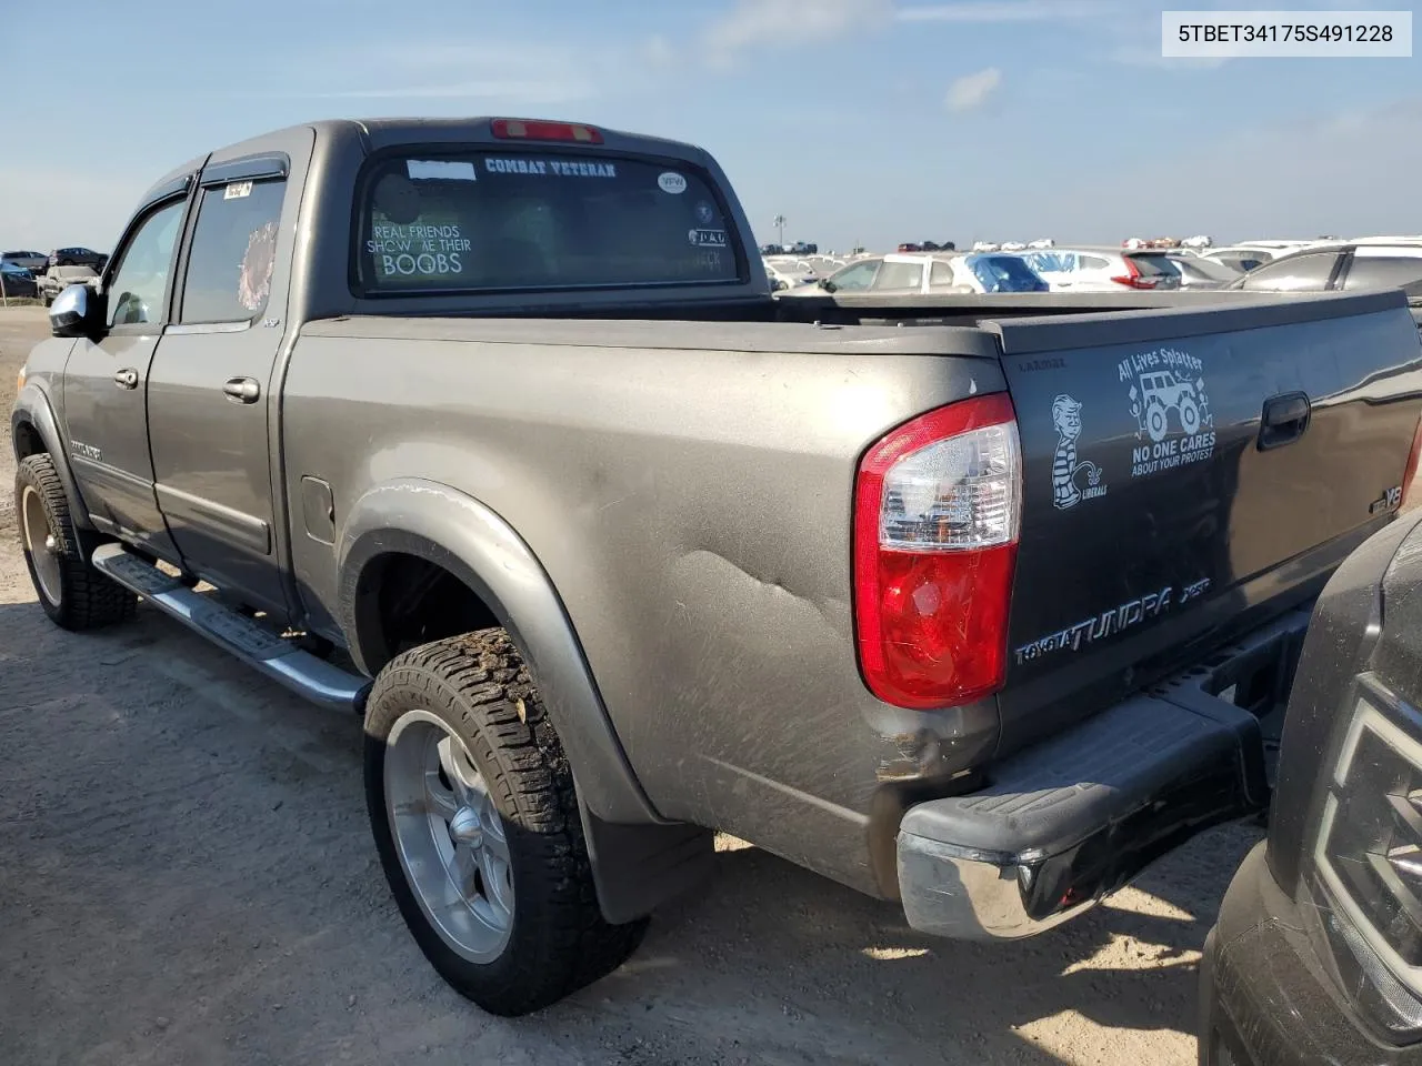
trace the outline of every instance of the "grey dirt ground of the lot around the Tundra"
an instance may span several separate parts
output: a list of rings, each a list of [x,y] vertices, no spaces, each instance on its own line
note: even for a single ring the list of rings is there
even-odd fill
[[[0,313],[0,409],[43,334]],[[0,496],[4,1063],[1192,1063],[1199,948],[1257,839],[1216,830],[1068,928],[985,947],[722,839],[717,881],[617,974],[493,1019],[390,901],[360,723],[152,610],[54,628]]]

